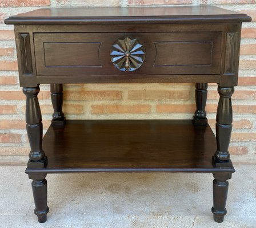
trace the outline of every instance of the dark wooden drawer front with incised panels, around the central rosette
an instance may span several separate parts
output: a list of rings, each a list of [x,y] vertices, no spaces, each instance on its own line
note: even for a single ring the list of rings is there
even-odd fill
[[[124,72],[111,62],[118,39],[137,39],[145,59]],[[220,74],[222,32],[34,33],[37,75]]]

